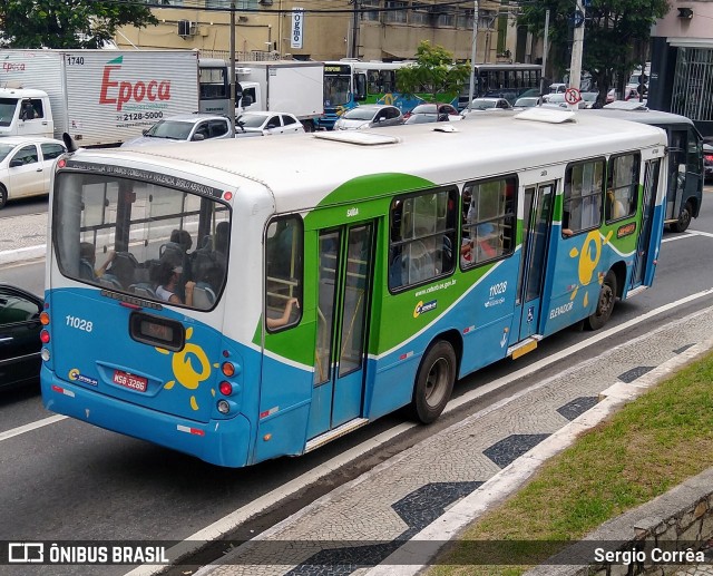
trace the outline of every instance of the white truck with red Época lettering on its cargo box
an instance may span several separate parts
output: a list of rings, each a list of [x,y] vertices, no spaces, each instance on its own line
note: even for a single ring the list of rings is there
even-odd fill
[[[0,61],[0,136],[111,146],[201,109],[193,50],[2,50]]]

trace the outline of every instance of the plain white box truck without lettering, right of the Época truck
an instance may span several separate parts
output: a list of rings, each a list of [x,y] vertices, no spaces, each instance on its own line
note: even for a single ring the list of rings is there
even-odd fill
[[[244,111],[290,113],[306,131],[324,110],[324,62],[268,60],[236,62],[235,74],[242,92],[235,115]]]

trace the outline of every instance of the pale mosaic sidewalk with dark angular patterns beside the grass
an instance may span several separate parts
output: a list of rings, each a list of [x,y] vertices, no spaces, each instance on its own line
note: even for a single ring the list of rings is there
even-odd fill
[[[363,574],[597,403],[713,333],[713,309],[533,383],[333,490],[201,576]]]

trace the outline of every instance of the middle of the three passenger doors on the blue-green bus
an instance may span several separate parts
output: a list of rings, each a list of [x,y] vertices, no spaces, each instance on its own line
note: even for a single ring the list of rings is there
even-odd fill
[[[554,197],[554,182],[525,188],[522,260],[517,291],[520,306],[518,342],[538,332]]]

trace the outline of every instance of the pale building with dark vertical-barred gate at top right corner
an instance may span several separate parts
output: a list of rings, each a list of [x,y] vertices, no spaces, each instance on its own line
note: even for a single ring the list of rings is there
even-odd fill
[[[713,2],[673,0],[652,35],[648,106],[713,136]]]

